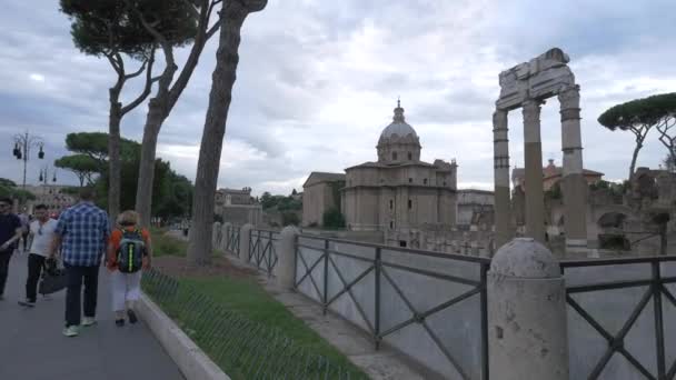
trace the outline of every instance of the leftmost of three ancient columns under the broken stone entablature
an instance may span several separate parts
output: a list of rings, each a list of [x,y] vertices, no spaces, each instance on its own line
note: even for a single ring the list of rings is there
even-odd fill
[[[495,242],[499,248],[513,238],[509,196],[509,138],[507,111],[493,113],[493,154],[495,182]]]

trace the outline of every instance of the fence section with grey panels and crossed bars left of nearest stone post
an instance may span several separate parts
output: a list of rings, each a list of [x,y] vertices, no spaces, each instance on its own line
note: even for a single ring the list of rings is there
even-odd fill
[[[489,259],[300,236],[296,288],[448,378],[488,379]]]

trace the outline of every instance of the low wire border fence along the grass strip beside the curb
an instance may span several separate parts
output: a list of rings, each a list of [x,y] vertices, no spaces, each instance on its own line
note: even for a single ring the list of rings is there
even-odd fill
[[[232,379],[367,379],[157,270],[142,287]]]

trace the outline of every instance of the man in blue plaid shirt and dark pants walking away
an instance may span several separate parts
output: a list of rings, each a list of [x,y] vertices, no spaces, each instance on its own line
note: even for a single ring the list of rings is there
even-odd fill
[[[51,256],[56,256],[58,247],[61,247],[68,277],[63,329],[63,334],[67,337],[78,336],[80,322],[83,327],[96,323],[99,266],[110,228],[108,214],[96,207],[92,200],[93,191],[88,188],[81,189],[80,202],[61,213],[54,231]],[[82,281],[84,282],[84,318],[80,320]]]

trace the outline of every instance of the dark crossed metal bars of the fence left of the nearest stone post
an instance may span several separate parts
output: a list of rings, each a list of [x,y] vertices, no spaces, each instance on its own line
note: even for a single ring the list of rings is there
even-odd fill
[[[304,240],[299,241],[299,238],[302,238]],[[321,241],[321,244],[315,246],[315,244],[306,243],[305,242],[305,241],[307,241],[306,239],[319,240],[319,241]],[[356,246],[359,248],[372,248],[375,254],[374,254],[372,259],[362,257],[362,256],[357,256],[355,253],[350,253],[349,251],[346,252],[347,249],[345,249],[345,248],[340,248],[340,250],[338,250],[336,247],[331,246],[331,242],[344,243],[347,247]],[[479,350],[480,350],[479,351],[479,354],[480,354],[479,362],[481,366],[481,369],[480,369],[481,378],[480,379],[488,380],[488,330],[487,330],[487,324],[488,324],[487,301],[488,300],[487,300],[487,286],[486,284],[487,284],[487,271],[488,271],[489,263],[490,263],[489,259],[471,258],[471,259],[467,260],[465,257],[463,257],[463,260],[457,260],[460,262],[477,264],[477,267],[478,267],[477,269],[479,272],[479,279],[474,280],[474,279],[468,279],[468,278],[463,278],[463,277],[457,277],[457,276],[449,276],[449,274],[440,273],[440,272],[437,272],[434,270],[426,270],[426,269],[415,268],[415,267],[410,267],[410,266],[406,266],[406,264],[399,264],[396,262],[391,262],[391,260],[387,260],[387,261],[384,260],[382,251],[384,250],[389,251],[390,249],[392,249],[392,247],[361,243],[361,242],[355,242],[355,241],[344,241],[344,240],[339,240],[339,239],[306,237],[306,236],[297,237],[295,246],[296,246],[295,254],[297,258],[297,262],[300,263],[300,267],[296,267],[296,269],[295,269],[296,270],[295,279],[297,280],[296,289],[299,289],[300,283],[302,283],[304,281],[307,281],[307,279],[309,277],[310,281],[312,282],[312,286],[315,287],[315,290],[317,291],[317,294],[319,296],[318,303],[321,304],[322,311],[325,313],[328,311],[328,307],[331,303],[334,303],[337,299],[339,299],[340,297],[349,297],[349,300],[350,300],[351,304],[354,304],[357,316],[361,317],[360,320],[362,320],[366,323],[366,327],[364,327],[361,324],[358,324],[358,327],[371,337],[376,349],[380,348],[380,342],[382,341],[382,339],[385,337],[387,337],[396,331],[399,331],[401,329],[405,329],[410,324],[419,324],[427,332],[426,334],[429,336],[429,339],[431,339],[431,342],[434,342],[436,348],[439,350],[439,353],[441,353],[446,358],[446,360],[448,360],[448,363],[453,368],[455,368],[457,373],[460,373],[460,377],[463,379],[469,379],[469,377],[470,377],[469,372],[467,371],[467,368],[465,368],[467,364],[465,364],[465,367],[464,367],[460,363],[460,361],[457,360],[458,358],[456,358],[456,356],[449,351],[449,349],[445,346],[445,342],[441,340],[440,336],[437,333],[437,331],[435,331],[435,329],[433,329],[431,324],[429,324],[426,321],[426,319],[429,318],[430,316],[441,312],[443,310],[447,310],[448,308],[450,308],[466,299],[470,299],[475,296],[479,297],[480,304],[477,310],[477,313],[479,317],[478,322],[480,323],[480,328],[479,328],[480,337],[478,337]],[[312,250],[315,252],[320,252],[321,254],[316,259],[316,261],[312,262],[311,266],[308,266],[308,261],[306,260],[306,258],[302,254],[302,249],[308,249],[308,250]],[[402,249],[392,249],[392,251],[409,253],[408,250],[402,250]],[[339,267],[338,262],[331,258],[331,256],[334,256],[334,254],[337,257],[341,257],[341,258],[351,260],[352,262],[361,261],[361,262],[368,262],[368,263],[372,263],[372,264],[370,267],[366,268],[365,270],[360,269],[355,273],[352,273],[355,271],[355,268],[352,268],[350,273],[355,274],[356,277],[352,277],[350,274],[350,278],[352,280],[347,281],[345,273],[342,273],[342,270],[344,270],[342,267]],[[436,259],[445,259],[445,260],[455,260],[456,259],[455,256],[448,254],[448,253],[426,252],[426,251],[419,251],[419,250],[415,251],[414,254],[430,257],[430,258],[436,258]],[[388,262],[388,261],[390,261],[390,262]],[[322,270],[324,270],[324,289],[321,291],[319,290],[318,284],[315,283],[315,277],[312,276],[312,271],[319,263],[324,263],[324,268],[322,268]],[[342,261],[340,263],[342,264]],[[336,290],[336,292],[334,293],[334,296],[331,296],[330,299],[328,297],[328,293],[329,293],[328,277],[329,277],[329,274],[334,276],[334,273],[328,270],[329,264],[332,268],[332,270],[336,272],[336,277],[340,281],[339,283],[341,287],[341,289]],[[299,268],[301,269],[300,271],[298,271]],[[468,286],[469,288],[466,291],[461,291],[460,293],[458,293],[454,297],[450,297],[448,300],[440,301],[437,306],[430,307],[427,310],[417,310],[412,304],[412,299],[409,299],[409,297],[406,296],[406,293],[405,293],[405,291],[410,292],[410,289],[401,288],[400,284],[395,282],[395,279],[391,278],[390,274],[388,274],[388,270],[390,268],[400,270],[404,273],[421,276],[427,279],[448,281],[449,283],[464,284],[464,286]],[[352,288],[360,281],[364,281],[364,279],[368,276],[368,273],[370,271],[374,271],[374,277],[375,277],[375,280],[374,280],[375,281],[374,282],[375,292],[374,292],[374,303],[372,303],[374,318],[372,319],[367,318],[367,314],[365,312],[365,307],[361,304],[362,302],[358,301],[357,297],[352,292]],[[398,296],[398,301],[400,300],[411,313],[410,318],[408,318],[405,321],[396,323],[396,326],[389,327],[386,331],[384,331],[382,327],[381,327],[381,308],[382,308],[381,297],[382,297],[382,277],[384,276],[385,276],[386,281],[389,283],[390,288]],[[368,283],[370,284],[371,282],[369,281]],[[310,291],[310,290],[307,290],[307,291]],[[306,292],[306,290],[304,290],[304,292]],[[414,294],[415,294],[415,292],[414,292]],[[355,321],[351,321],[351,320],[350,320],[350,322],[356,323]],[[448,343],[448,342],[446,342],[446,343]],[[349,378],[349,374],[346,374],[346,378]]]

